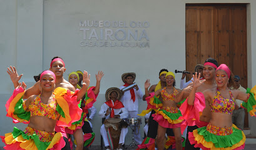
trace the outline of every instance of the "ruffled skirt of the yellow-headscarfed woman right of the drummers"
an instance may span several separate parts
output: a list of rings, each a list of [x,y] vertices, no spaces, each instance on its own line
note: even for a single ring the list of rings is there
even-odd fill
[[[180,128],[184,119],[178,108],[161,107],[152,114],[153,119],[163,128]]]

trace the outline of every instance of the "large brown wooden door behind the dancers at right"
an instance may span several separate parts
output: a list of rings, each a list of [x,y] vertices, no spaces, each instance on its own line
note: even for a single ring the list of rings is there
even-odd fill
[[[243,4],[187,4],[186,70],[194,71],[205,59],[215,58],[240,76],[241,85],[247,88],[246,16]]]

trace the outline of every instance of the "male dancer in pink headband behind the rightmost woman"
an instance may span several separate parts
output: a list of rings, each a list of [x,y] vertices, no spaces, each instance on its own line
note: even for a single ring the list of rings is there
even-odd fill
[[[205,63],[203,64],[203,76],[205,78],[205,82],[197,88],[197,92],[202,93],[206,89],[216,88],[215,70],[217,69],[217,67],[218,63],[215,59],[208,58],[205,60]],[[189,84],[187,88],[190,87],[190,89],[192,89],[192,85],[193,83]],[[197,104],[192,106],[192,104],[189,103],[187,100],[187,97],[190,94],[190,92],[188,93],[185,89],[183,89],[182,92],[178,93],[177,96],[175,97],[176,102],[186,99],[186,101],[180,107],[182,116],[185,119],[185,123],[183,123],[181,126],[182,133],[187,128],[185,150],[199,150],[200,148],[195,148],[192,144],[190,144],[188,139],[188,133],[192,132],[194,129],[207,126],[208,122],[210,121],[210,108],[208,106],[205,109],[201,107],[200,104],[205,102],[202,102],[204,100],[199,99],[198,96],[196,97],[195,100],[195,103]],[[202,115],[200,116],[200,114]]]

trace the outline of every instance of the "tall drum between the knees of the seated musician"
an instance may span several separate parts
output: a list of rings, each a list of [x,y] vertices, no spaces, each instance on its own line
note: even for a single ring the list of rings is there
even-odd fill
[[[127,128],[128,124],[125,123],[123,119],[119,118],[106,119],[104,121],[104,124],[108,134],[108,138],[110,137],[110,147],[112,147],[113,149],[118,148],[121,128]]]

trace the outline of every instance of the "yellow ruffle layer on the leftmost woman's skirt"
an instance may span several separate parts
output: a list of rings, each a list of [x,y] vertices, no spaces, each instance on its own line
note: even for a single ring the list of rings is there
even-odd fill
[[[53,137],[53,140],[49,144],[48,148],[46,148],[46,150],[53,148],[54,144],[58,143],[59,140],[61,139],[61,137],[62,137],[61,133],[56,133]],[[23,149],[26,149],[26,150],[36,150],[36,149],[38,149],[36,147],[36,144],[34,143],[34,141],[32,139],[24,139],[22,135],[20,135],[20,136],[18,136],[17,138],[14,139],[12,133],[6,133],[4,141],[8,145],[19,142],[20,143],[19,146]]]

